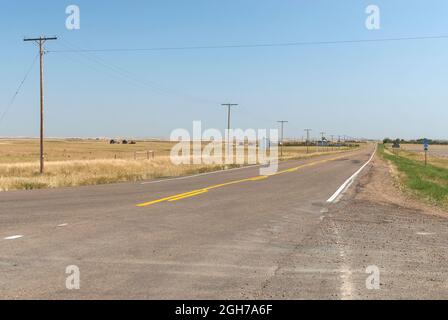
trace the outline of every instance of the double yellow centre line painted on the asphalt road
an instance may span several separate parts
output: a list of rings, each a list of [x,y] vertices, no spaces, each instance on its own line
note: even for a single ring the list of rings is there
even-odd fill
[[[161,203],[161,202],[174,202],[174,201],[179,201],[179,200],[184,200],[187,198],[191,198],[191,197],[195,197],[195,196],[199,196],[201,194],[207,193],[210,190],[213,189],[218,189],[218,188],[223,188],[223,187],[227,187],[230,185],[234,185],[234,184],[239,184],[239,183],[244,183],[244,182],[256,182],[256,181],[261,181],[261,180],[266,180],[269,177],[273,177],[273,176],[278,176],[280,174],[285,174],[285,173],[291,173],[291,172],[295,172],[297,170],[303,169],[305,167],[311,167],[311,166],[315,166],[321,163],[325,163],[325,162],[329,162],[329,161],[334,161],[337,159],[341,159],[341,158],[345,158],[347,155],[343,155],[343,156],[338,156],[338,157],[334,157],[334,158],[330,158],[330,159],[324,159],[324,160],[319,160],[319,161],[314,161],[314,162],[310,162],[310,163],[306,163],[303,165],[300,165],[298,167],[294,167],[294,168],[290,168],[290,169],[286,169],[283,171],[279,171],[276,172],[272,175],[269,176],[256,176],[253,178],[247,178],[247,179],[241,179],[241,180],[234,180],[234,181],[230,181],[230,182],[226,182],[226,183],[221,183],[221,184],[217,184],[217,185],[213,185],[213,186],[209,186],[203,189],[197,189],[197,190],[193,190],[190,192],[184,192],[184,193],[180,193],[180,194],[176,194],[170,197],[165,197],[165,198],[161,198],[161,199],[157,199],[157,200],[152,200],[149,202],[145,202],[145,203],[140,203],[137,204],[137,207],[147,207],[156,203]]]

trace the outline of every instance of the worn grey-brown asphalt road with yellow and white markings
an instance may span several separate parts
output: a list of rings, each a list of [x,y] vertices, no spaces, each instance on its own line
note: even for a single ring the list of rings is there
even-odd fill
[[[252,167],[1,193],[0,298],[362,296],[364,266],[343,259],[351,244],[328,231],[338,205],[327,199],[373,151],[282,163],[267,179]],[[66,288],[69,265],[79,267],[79,290]]]

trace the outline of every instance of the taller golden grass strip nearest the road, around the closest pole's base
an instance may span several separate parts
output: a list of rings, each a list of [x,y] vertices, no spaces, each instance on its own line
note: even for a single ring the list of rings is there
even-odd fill
[[[0,190],[41,189],[140,181],[220,170],[219,165],[171,164],[168,158],[139,160],[73,160],[47,162],[40,175],[39,163],[0,164]]]

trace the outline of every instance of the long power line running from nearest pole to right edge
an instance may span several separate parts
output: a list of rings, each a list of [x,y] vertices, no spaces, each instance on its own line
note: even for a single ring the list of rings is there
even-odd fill
[[[236,44],[236,45],[210,45],[210,46],[184,46],[184,47],[153,47],[153,48],[105,48],[105,49],[80,49],[80,50],[52,50],[52,53],[63,52],[145,52],[145,51],[181,51],[181,50],[206,50],[206,49],[239,49],[239,48],[264,48],[264,47],[294,47],[294,46],[316,46],[316,45],[338,45],[338,44],[358,44],[374,42],[396,42],[415,40],[441,40],[448,39],[448,35],[435,36],[414,36],[395,37],[378,39],[355,39],[355,40],[334,40],[334,41],[302,41],[283,43],[258,43],[258,44]]]

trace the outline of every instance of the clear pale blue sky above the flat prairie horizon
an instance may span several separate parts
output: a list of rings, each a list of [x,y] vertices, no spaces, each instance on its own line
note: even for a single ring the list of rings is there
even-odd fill
[[[0,113],[37,48],[132,49],[448,35],[446,0],[0,0]],[[67,30],[65,9],[81,10]],[[381,29],[365,9],[381,9]],[[285,136],[448,138],[448,39],[129,52],[49,52],[46,134],[168,137],[233,126]],[[0,123],[0,136],[38,135],[38,65]]]

